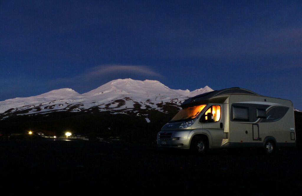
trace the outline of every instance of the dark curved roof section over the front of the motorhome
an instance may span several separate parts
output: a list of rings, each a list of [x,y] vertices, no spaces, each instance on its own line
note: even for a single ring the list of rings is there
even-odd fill
[[[218,90],[218,91],[217,90],[211,91],[211,92],[207,92],[204,94],[196,95],[195,97],[188,98],[181,104],[181,107],[188,107],[191,105],[207,103],[209,99],[213,100],[215,97],[217,97],[217,99],[215,100],[217,103],[218,102],[223,103],[223,101],[226,100],[226,98],[228,96],[220,96],[220,95],[229,95],[229,94],[248,94],[248,95],[262,96],[262,95],[258,95],[257,93],[246,90],[246,89],[241,89],[239,87],[233,87],[233,88],[222,89],[222,90]]]

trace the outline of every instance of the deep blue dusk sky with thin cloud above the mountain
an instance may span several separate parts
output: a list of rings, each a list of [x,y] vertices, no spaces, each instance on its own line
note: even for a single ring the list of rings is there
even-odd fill
[[[0,101],[119,78],[302,110],[301,1],[1,1]]]

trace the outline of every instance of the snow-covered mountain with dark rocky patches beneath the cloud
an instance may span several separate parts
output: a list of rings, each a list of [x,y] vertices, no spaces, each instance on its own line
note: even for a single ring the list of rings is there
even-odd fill
[[[47,114],[54,111],[114,114],[137,110],[159,110],[164,105],[179,107],[188,97],[213,91],[208,86],[194,90],[174,90],[156,80],[117,79],[90,92],[79,94],[72,89],[58,89],[41,95],[0,101],[0,119],[14,115]]]

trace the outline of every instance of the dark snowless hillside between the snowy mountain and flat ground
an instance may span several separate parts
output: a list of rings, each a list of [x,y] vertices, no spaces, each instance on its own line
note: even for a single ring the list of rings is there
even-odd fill
[[[73,134],[88,136],[90,140],[97,137],[104,139],[119,137],[130,142],[154,143],[157,132],[178,111],[172,109],[173,112],[168,114],[158,110],[145,110],[128,114],[114,114],[106,111],[54,112],[48,116],[15,116],[0,121],[0,128],[3,135],[24,134],[31,129],[34,132],[43,132],[45,135],[59,136],[69,131]]]

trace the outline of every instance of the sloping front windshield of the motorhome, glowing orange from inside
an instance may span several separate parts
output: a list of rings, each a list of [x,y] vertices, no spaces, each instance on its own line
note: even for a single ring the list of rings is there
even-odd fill
[[[206,107],[206,104],[183,108],[172,118],[172,120],[170,120],[170,122],[193,119],[197,117],[204,107]]]

